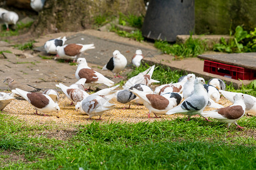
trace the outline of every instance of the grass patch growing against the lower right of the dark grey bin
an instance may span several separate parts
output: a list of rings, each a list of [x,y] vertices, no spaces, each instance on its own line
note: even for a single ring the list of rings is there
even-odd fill
[[[165,54],[172,54],[175,59],[197,57],[205,52],[207,45],[200,39],[192,39],[192,34],[184,44],[169,44],[167,41],[155,41],[155,47]]]

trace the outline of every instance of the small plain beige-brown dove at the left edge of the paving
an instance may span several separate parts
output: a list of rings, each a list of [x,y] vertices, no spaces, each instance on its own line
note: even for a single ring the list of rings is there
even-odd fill
[[[40,88],[35,88],[29,84],[23,84],[23,83],[19,83],[16,80],[14,80],[13,78],[10,78],[9,76],[5,78],[5,80],[3,81],[3,83],[7,82],[8,83],[8,87],[11,90],[15,90],[15,88],[20,88],[21,90],[27,91],[27,92],[38,92],[41,89]]]

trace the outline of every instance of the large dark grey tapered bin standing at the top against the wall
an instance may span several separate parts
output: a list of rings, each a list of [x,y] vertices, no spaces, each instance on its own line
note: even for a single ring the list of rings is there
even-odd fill
[[[195,0],[151,0],[142,25],[148,39],[176,41],[195,27]]]

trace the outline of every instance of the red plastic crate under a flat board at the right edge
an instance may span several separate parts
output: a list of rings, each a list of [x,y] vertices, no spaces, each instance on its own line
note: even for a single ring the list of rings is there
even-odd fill
[[[204,71],[212,74],[222,75],[232,79],[254,80],[256,79],[256,70],[245,69],[232,65],[214,61],[204,61]]]

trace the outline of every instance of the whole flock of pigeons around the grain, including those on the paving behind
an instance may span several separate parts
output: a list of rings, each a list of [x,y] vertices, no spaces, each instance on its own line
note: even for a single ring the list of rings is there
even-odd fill
[[[155,117],[159,114],[175,114],[183,113],[189,118],[195,114],[199,114],[209,121],[207,117],[213,117],[221,122],[227,122],[228,126],[237,124],[245,112],[256,113],[256,97],[235,92],[225,91],[225,83],[221,79],[210,79],[205,84],[203,78],[197,78],[195,74],[181,76],[177,83],[162,84],[153,91],[149,85],[151,83],[159,83],[158,80],[151,79],[155,66],[151,66],[147,70],[133,76],[122,87],[122,90],[116,90],[119,85],[114,86],[114,82],[106,78],[96,70],[91,69],[85,58],[79,58],[80,54],[85,50],[94,49],[94,44],[67,44],[67,39],[63,37],[48,40],[44,48],[49,54],[57,54],[57,56],[65,59],[77,59],[77,70],[75,77],[77,82],[71,86],[65,86],[62,83],[56,84],[65,96],[75,104],[76,111],[86,113],[89,118],[93,116],[102,116],[105,111],[109,111],[114,107],[113,103],[128,105],[136,102],[143,104],[148,110],[148,118],[150,113],[154,113]],[[132,59],[134,66],[141,65],[143,59],[142,51],[137,50]],[[127,59],[118,50],[114,50],[113,57],[102,68],[102,70],[110,70],[118,77],[127,65]],[[58,105],[59,93],[56,90],[49,89],[44,92],[39,88],[32,87],[28,84],[16,82],[13,78],[7,77],[4,82],[8,83],[12,93],[0,94],[0,110],[4,109],[14,95],[22,96],[30,104],[34,105],[36,112],[43,113],[59,112]],[[85,86],[94,86],[96,84],[105,84],[109,88],[100,90],[89,95]],[[220,100],[220,94],[226,99],[232,101],[233,105],[223,107],[217,102]],[[183,100],[184,99],[184,100]],[[112,102],[110,102],[112,101]],[[214,111],[204,112],[206,107],[216,108]],[[99,118],[99,119],[100,119]]]

